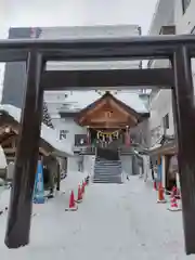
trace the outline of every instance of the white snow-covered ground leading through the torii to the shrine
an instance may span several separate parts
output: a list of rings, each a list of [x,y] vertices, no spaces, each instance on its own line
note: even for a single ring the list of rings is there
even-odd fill
[[[63,188],[62,188],[63,190]],[[183,260],[182,213],[156,204],[143,180],[125,184],[91,184],[76,212],[65,212],[68,192],[36,205],[30,245],[9,250],[6,216],[0,217],[2,260]]]

